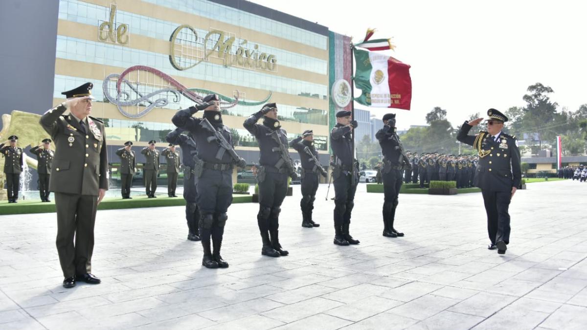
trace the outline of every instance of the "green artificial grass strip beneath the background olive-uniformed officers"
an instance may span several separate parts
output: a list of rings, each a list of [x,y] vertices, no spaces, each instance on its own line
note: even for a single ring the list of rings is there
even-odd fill
[[[251,195],[233,195],[232,203],[252,203]],[[144,196],[135,196],[133,199],[123,200],[122,198],[104,198],[98,206],[98,210],[117,210],[120,208],[139,208],[139,207],[166,207],[166,206],[184,206],[185,200],[181,197],[163,197],[147,198]],[[28,214],[28,213],[54,213],[55,202],[42,203],[40,200],[24,200],[18,203],[8,204],[8,201],[0,202],[0,215],[5,214]]]

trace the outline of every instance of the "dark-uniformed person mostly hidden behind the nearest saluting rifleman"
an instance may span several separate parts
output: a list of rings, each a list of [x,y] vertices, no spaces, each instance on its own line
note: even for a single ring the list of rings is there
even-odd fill
[[[184,200],[185,220],[187,221],[190,241],[200,240],[200,209],[198,208],[198,192],[195,189],[197,178],[194,177],[194,156],[197,157],[198,147],[194,139],[186,134],[181,134],[183,129],[172,130],[165,137],[169,143],[177,144],[181,148],[181,159],[183,161],[184,173]]]

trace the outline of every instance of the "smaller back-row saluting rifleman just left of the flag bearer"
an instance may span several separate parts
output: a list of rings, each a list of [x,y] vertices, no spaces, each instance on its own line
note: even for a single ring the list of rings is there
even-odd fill
[[[320,224],[312,220],[312,210],[316,200],[316,191],[320,183],[320,175],[327,176],[323,171],[321,164],[316,164],[319,160],[318,150],[314,147],[314,133],[312,130],[305,130],[302,136],[296,137],[289,143],[299,153],[299,159],[302,163],[302,227],[313,228],[320,227]],[[313,154],[313,157],[312,157]]]

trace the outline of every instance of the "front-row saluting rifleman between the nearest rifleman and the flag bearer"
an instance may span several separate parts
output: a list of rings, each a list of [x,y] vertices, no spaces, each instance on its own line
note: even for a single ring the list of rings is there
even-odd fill
[[[258,124],[263,117],[263,124]],[[288,255],[279,244],[279,213],[288,192],[288,176],[294,176],[292,160],[288,154],[287,132],[277,120],[277,105],[267,103],[261,110],[245,120],[243,126],[259,143],[259,213],[257,224],[261,231],[262,255],[279,257]]]

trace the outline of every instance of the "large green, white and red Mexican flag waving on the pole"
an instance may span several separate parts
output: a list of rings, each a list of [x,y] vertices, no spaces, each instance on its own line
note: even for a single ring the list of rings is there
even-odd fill
[[[410,110],[410,65],[387,55],[353,49],[355,86],[363,92],[355,100],[373,107]]]

